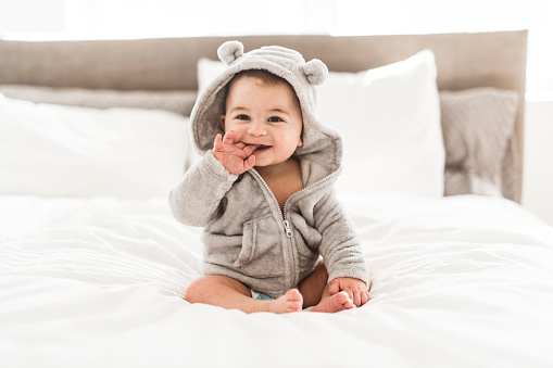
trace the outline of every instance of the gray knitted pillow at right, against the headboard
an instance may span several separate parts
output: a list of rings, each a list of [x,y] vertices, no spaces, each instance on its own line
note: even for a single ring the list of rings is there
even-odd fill
[[[513,199],[512,136],[517,104],[517,93],[508,90],[440,92],[445,195],[473,193]]]

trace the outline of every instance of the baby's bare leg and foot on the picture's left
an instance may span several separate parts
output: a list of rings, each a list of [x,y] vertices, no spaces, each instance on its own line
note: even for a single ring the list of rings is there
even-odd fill
[[[246,313],[299,312],[303,299],[297,289],[274,301],[257,301],[251,297],[250,289],[243,283],[226,276],[204,276],[192,282],[185,299],[190,303],[203,303],[227,309],[240,309]]]

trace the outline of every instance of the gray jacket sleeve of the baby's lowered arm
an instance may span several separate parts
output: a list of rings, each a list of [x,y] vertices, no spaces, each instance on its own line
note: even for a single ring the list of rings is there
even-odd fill
[[[332,190],[319,202],[317,227],[323,234],[319,252],[328,270],[328,282],[339,277],[360,279],[368,287],[363,248],[353,224]]]

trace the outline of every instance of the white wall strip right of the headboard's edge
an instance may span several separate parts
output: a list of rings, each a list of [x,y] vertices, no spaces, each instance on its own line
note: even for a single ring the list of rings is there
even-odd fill
[[[523,205],[553,226],[553,101],[527,101]]]

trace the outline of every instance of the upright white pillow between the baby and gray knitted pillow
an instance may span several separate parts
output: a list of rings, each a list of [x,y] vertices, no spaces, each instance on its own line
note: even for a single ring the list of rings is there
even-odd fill
[[[341,194],[443,196],[445,150],[430,50],[361,73],[330,73],[317,117],[343,137]]]

